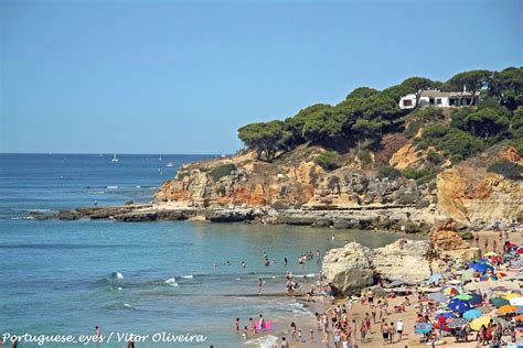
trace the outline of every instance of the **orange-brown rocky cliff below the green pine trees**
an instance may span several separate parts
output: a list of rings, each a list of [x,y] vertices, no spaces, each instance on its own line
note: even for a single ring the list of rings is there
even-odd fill
[[[394,146],[395,145],[395,146]],[[416,153],[406,140],[391,143],[374,161],[404,170],[416,166]],[[495,219],[523,218],[523,182],[488,173],[500,157],[522,163],[510,146],[497,148],[453,167],[446,162],[437,177],[425,183],[405,177],[376,176],[377,165],[363,164],[353,153],[341,167],[327,172],[313,162],[324,151],[301,145],[273,163],[253,152],[228,159],[183,165],[177,177],[154,195],[154,204],[203,209],[264,208],[275,210],[274,222],[338,228],[428,230],[438,216],[481,227]],[[371,222],[369,222],[371,220]]]

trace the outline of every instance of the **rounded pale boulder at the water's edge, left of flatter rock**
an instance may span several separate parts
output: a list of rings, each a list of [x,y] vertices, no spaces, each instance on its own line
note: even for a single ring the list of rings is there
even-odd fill
[[[371,250],[356,242],[331,249],[323,258],[327,281],[339,293],[350,294],[373,284]]]

